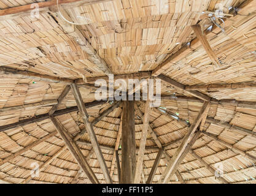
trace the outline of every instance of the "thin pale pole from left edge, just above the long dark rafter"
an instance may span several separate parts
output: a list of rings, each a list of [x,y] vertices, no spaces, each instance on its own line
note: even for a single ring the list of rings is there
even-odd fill
[[[43,100],[42,102],[37,102],[34,104],[24,104],[24,105],[1,108],[0,112],[6,112],[6,111],[12,111],[12,110],[22,110],[22,109],[30,110],[30,109],[34,109],[34,108],[48,107],[51,105],[55,105],[57,103],[58,103],[58,101],[55,99]]]

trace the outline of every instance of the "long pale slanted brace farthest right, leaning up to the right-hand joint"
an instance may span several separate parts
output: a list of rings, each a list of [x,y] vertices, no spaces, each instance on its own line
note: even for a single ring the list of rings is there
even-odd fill
[[[174,167],[177,164],[177,161],[180,159],[180,156],[184,153],[186,146],[188,145],[189,141],[192,140],[193,134],[197,129],[198,125],[200,124],[204,113],[208,110],[210,104],[209,102],[205,102],[203,107],[201,108],[198,116],[196,117],[194,123],[188,128],[188,132],[185,135],[184,139],[182,140],[179,148],[177,149],[176,153],[174,153],[171,162],[166,167],[164,173],[161,175],[160,183],[168,183],[168,178],[174,170]]]

